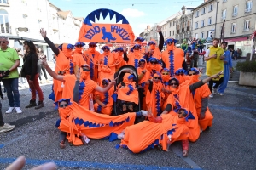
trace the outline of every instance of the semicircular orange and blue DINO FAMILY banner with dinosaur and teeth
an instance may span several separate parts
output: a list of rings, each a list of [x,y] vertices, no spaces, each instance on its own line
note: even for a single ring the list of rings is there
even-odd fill
[[[115,15],[116,24],[98,24],[95,18],[100,20],[102,14],[103,19],[109,14],[110,20]],[[117,24],[122,20],[122,24]],[[94,22],[93,24],[90,22]],[[84,24],[79,32],[79,42],[133,42],[134,33],[128,20],[122,14],[110,9],[100,8],[86,16]]]

